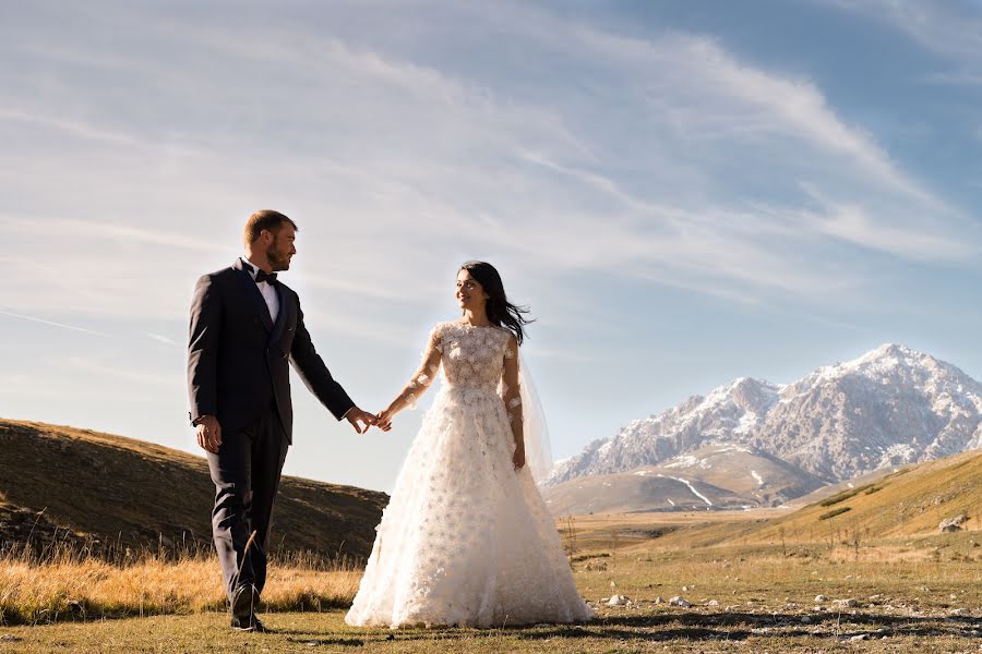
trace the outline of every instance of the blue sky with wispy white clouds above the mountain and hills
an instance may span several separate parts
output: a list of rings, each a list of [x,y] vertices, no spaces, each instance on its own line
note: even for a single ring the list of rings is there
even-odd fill
[[[494,263],[559,457],[888,341],[982,377],[977,0],[4,3],[0,89],[4,417],[194,451],[191,289],[259,208],[368,410]],[[391,486],[421,410],[294,395],[288,473]]]

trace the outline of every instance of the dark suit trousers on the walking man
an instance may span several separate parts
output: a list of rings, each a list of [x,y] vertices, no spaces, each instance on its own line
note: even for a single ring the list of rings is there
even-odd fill
[[[208,452],[215,483],[212,536],[229,602],[236,588],[251,583],[262,593],[266,583],[273,504],[288,447],[271,404],[252,426],[223,433],[218,452]]]

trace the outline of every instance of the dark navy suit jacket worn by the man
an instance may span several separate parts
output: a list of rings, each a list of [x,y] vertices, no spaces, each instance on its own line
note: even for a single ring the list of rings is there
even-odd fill
[[[337,420],[355,405],[314,350],[300,299],[280,281],[276,324],[242,259],[197,280],[191,303],[191,421],[214,415],[223,434],[253,425],[274,402],[292,443],[289,363]]]

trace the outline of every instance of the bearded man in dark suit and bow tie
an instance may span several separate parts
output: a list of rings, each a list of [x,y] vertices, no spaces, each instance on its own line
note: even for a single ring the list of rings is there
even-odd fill
[[[191,303],[191,424],[215,482],[212,534],[231,625],[247,631],[264,630],[255,607],[266,581],[273,500],[292,443],[289,364],[337,420],[359,434],[376,423],[331,376],[297,293],[276,279],[297,254],[296,233],[283,214],[256,211],[246,222],[244,256],[199,279]]]

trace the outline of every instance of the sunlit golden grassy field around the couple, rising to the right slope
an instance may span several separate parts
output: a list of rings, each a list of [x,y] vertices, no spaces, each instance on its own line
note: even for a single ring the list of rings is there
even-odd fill
[[[263,597],[274,631],[238,634],[207,549],[0,547],[0,652],[978,652],[979,479],[970,453],[798,510],[558,520],[598,611],[578,626],[351,629],[350,559],[278,552]],[[954,516],[963,531],[941,533]],[[608,605],[614,594],[630,603]]]

